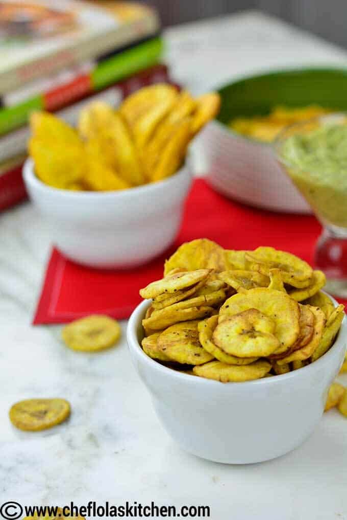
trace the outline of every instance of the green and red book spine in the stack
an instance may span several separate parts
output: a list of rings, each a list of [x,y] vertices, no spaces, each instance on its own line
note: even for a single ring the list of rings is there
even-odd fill
[[[152,38],[96,64],[90,73],[77,75],[69,82],[37,94],[16,106],[0,109],[0,135],[26,124],[33,110],[59,110],[92,92],[154,65],[159,61],[162,51],[162,39]]]

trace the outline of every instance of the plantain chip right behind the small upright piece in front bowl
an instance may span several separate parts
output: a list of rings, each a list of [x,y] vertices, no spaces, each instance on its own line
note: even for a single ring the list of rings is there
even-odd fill
[[[291,253],[260,247],[246,253],[245,258],[247,262],[253,264],[252,269],[263,275],[269,276],[270,269],[280,269],[283,282],[293,285],[293,287],[308,287],[311,283],[312,267]]]

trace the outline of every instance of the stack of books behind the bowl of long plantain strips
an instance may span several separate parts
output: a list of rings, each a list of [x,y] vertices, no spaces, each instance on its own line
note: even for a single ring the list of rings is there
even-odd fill
[[[0,210],[26,197],[22,164],[31,112],[75,124],[92,100],[116,107],[168,82],[155,10],[135,3],[0,0]]]

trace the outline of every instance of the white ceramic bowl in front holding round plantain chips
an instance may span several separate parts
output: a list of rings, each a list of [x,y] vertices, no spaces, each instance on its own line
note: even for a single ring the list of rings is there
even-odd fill
[[[160,421],[179,446],[204,459],[247,464],[280,457],[313,432],[343,362],[346,318],[335,344],[311,365],[272,378],[219,383],[166,368],[143,352],[141,320],[149,305],[134,310],[128,345]]]

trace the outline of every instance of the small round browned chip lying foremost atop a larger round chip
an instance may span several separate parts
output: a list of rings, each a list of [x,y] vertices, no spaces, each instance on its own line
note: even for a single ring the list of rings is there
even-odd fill
[[[280,346],[275,328],[274,319],[251,308],[219,323],[213,342],[231,356],[266,357]]]

